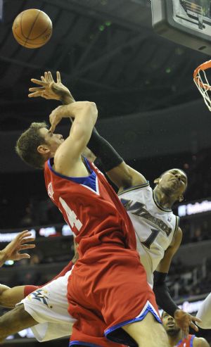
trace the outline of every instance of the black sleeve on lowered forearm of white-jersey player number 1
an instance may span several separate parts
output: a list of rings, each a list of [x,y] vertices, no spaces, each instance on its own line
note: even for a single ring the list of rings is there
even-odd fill
[[[167,273],[155,271],[154,272],[154,285],[153,291],[155,293],[155,299],[160,308],[165,310],[168,315],[174,317],[174,313],[179,307],[174,303],[170,296],[169,289],[165,283]]]

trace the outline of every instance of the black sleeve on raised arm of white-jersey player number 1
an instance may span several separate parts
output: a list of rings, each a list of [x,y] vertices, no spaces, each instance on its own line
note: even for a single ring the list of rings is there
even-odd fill
[[[103,170],[106,172],[112,170],[124,161],[117,151],[113,149],[113,146],[98,134],[95,127],[87,147],[94,153],[99,163],[102,164]]]

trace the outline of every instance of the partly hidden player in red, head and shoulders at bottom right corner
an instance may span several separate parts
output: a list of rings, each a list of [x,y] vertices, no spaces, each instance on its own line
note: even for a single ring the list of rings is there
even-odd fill
[[[188,335],[185,339],[174,318],[165,311],[162,312],[162,324],[167,332],[170,347],[210,347],[209,343],[202,337]]]

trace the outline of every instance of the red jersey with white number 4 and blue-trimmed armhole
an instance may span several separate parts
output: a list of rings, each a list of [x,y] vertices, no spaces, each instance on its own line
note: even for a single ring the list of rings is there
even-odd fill
[[[45,163],[49,197],[63,214],[81,257],[99,244],[120,244],[136,250],[134,227],[115,191],[104,175],[84,159],[88,177],[67,177],[53,170],[53,158]]]

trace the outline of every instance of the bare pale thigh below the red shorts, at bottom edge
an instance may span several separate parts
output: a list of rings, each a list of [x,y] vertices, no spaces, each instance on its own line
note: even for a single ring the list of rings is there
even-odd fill
[[[148,313],[140,322],[127,324],[122,327],[140,347],[167,347],[168,339],[162,324]]]

